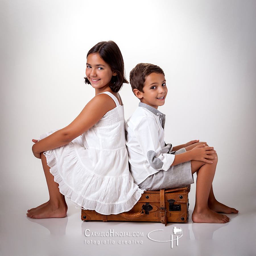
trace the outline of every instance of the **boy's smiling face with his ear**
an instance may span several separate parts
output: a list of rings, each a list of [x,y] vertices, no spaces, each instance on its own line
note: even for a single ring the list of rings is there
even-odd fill
[[[143,91],[134,89],[133,92],[141,100],[153,108],[163,106],[167,95],[166,80],[163,74],[151,73],[145,78]]]

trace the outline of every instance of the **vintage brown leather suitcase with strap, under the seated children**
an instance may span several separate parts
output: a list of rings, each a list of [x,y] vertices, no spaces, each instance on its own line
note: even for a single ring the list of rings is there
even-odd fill
[[[102,215],[95,210],[82,210],[81,219],[85,221],[151,221],[187,222],[188,193],[190,185],[175,189],[145,191],[129,212]]]

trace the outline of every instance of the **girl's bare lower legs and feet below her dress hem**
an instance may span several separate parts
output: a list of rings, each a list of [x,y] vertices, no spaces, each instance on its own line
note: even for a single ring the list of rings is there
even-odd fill
[[[50,199],[48,202],[39,207],[28,210],[29,218],[63,218],[67,215],[67,204],[64,196],[59,192],[59,185],[54,181],[53,175],[50,173],[50,168],[47,165],[46,157],[41,153],[41,159],[48,185]]]

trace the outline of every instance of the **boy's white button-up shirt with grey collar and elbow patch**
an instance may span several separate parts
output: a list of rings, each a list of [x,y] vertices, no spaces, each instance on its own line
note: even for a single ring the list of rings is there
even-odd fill
[[[175,155],[172,144],[164,142],[165,115],[140,102],[125,124],[130,170],[138,185],[159,170],[167,171]]]

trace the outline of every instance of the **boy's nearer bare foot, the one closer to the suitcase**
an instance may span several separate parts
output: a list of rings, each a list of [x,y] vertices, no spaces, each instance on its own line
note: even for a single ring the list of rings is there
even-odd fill
[[[193,222],[197,223],[226,223],[229,222],[228,216],[219,214],[209,208],[203,210],[194,209],[192,213]]]

